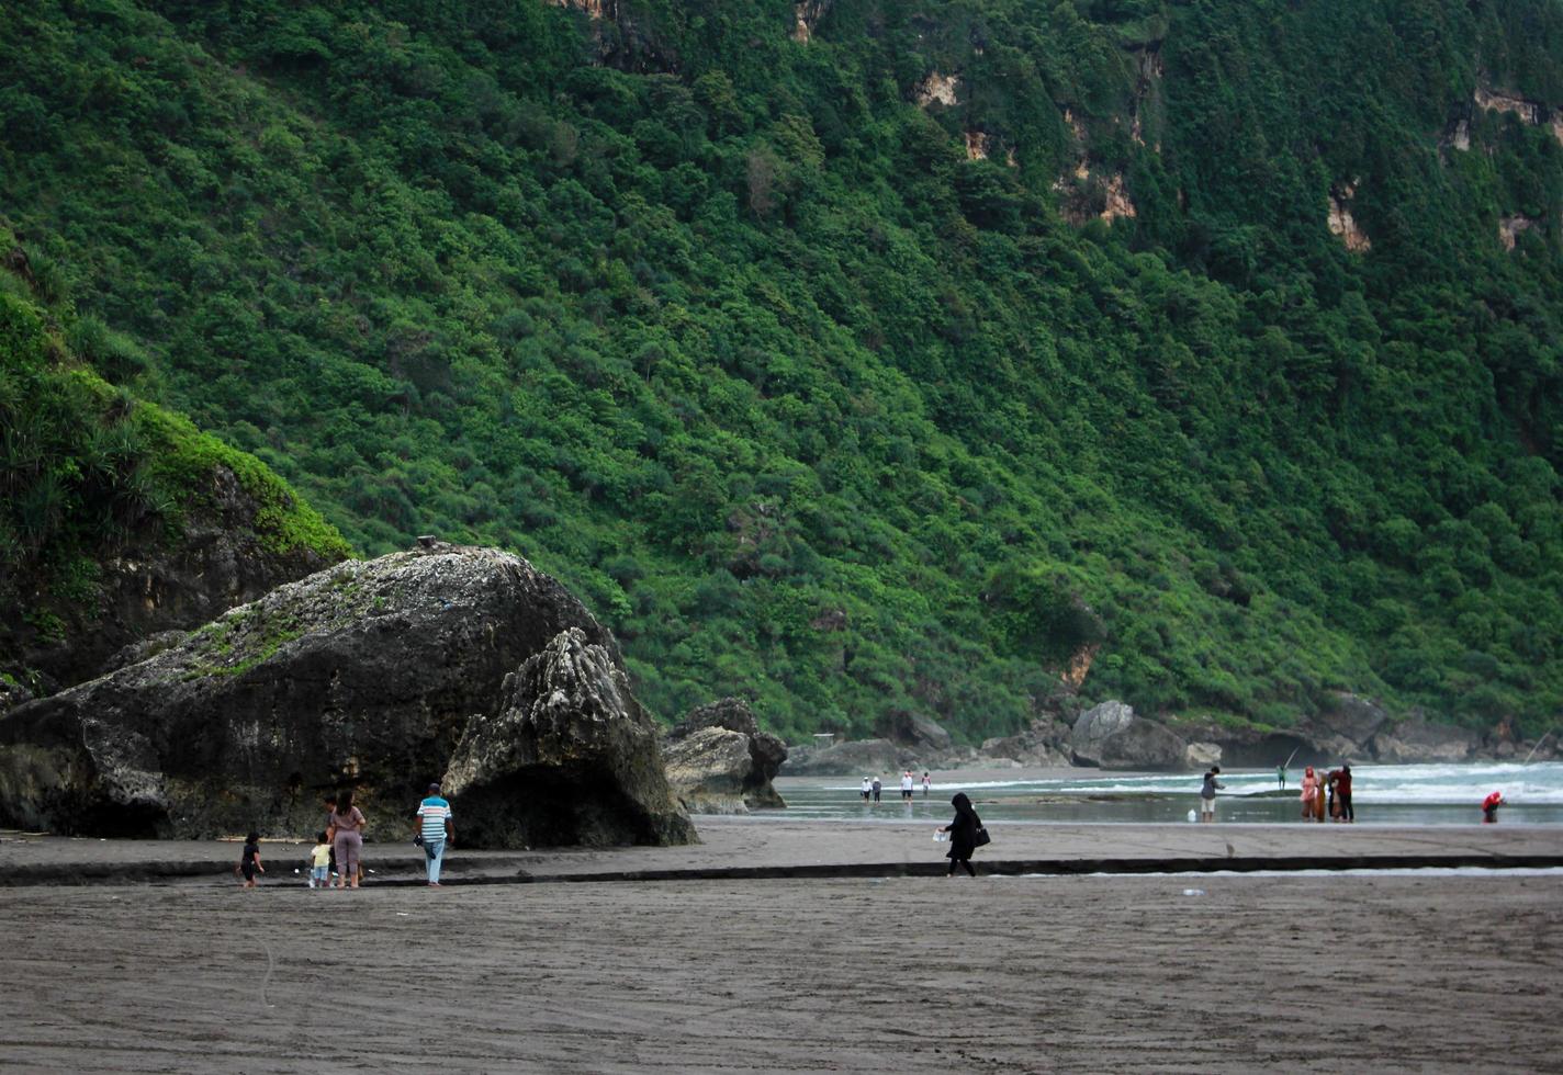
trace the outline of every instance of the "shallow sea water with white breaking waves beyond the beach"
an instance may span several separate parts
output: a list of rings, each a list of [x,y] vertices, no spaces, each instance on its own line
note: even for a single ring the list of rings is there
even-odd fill
[[[917,773],[919,780],[922,773]],[[1080,769],[1060,777],[1027,775],[1025,770],[982,773],[935,773],[927,798],[917,786],[911,803],[900,800],[899,773],[880,777],[883,802],[864,806],[860,780],[850,777],[778,777],[775,788],[788,803],[785,811],[760,811],[789,820],[936,820],[950,816],[950,795],[964,791],[983,820],[1080,823],[1080,822],[1186,822],[1199,805],[1200,773],[1128,773]],[[1302,770],[1286,770],[1286,791],[1279,794],[1275,770],[1230,770],[1218,797],[1221,822],[1304,823]],[[1482,800],[1504,792],[1508,806],[1500,825],[1563,825],[1563,762],[1538,761],[1352,766],[1352,805],[1358,825],[1480,825]],[[1314,822],[1316,823],[1316,822]]]

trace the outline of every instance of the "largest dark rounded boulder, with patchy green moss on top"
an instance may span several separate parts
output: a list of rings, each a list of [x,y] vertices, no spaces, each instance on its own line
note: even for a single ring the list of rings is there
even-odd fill
[[[608,631],[516,556],[436,545],[342,562],[13,709],[0,817],[63,833],[299,834],[319,830],[322,792],[353,784],[370,836],[389,825],[400,838],[469,722],[499,711],[506,673],[567,628],[621,667]],[[627,692],[619,705],[644,717]],[[633,764],[661,780],[649,731],[644,744]],[[610,809],[617,791],[602,792]],[[466,839],[472,812],[458,803]]]

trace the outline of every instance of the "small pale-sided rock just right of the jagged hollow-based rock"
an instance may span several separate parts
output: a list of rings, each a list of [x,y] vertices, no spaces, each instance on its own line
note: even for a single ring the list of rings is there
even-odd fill
[[[786,806],[771,784],[786,756],[786,744],[760,730],[742,698],[694,709],[663,744],[674,794],[685,808],[703,814]]]

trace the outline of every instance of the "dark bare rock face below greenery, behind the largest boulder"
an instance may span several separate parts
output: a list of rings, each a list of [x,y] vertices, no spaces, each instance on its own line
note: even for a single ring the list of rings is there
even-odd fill
[[[131,545],[102,562],[100,597],[66,612],[63,642],[0,617],[0,653],[39,672],[47,689],[73,686],[106,670],[109,658],[147,636],[189,630],[331,561],[309,548],[270,548],[259,536],[263,508],[227,467],[184,512],[170,542]]]

